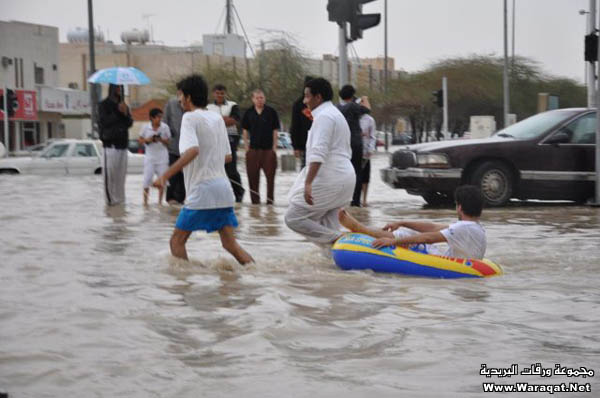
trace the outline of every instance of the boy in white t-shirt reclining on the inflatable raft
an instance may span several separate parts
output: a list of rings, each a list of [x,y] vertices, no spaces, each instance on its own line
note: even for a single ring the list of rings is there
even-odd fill
[[[427,254],[454,258],[482,259],[487,245],[485,230],[479,223],[483,209],[483,196],[479,188],[463,185],[454,192],[458,221],[450,225],[427,221],[398,221],[383,229],[362,225],[344,209],[338,217],[340,223],[352,232],[370,235],[375,239],[372,246],[403,246],[406,248],[425,244]],[[447,242],[448,250],[442,252],[433,243]]]

